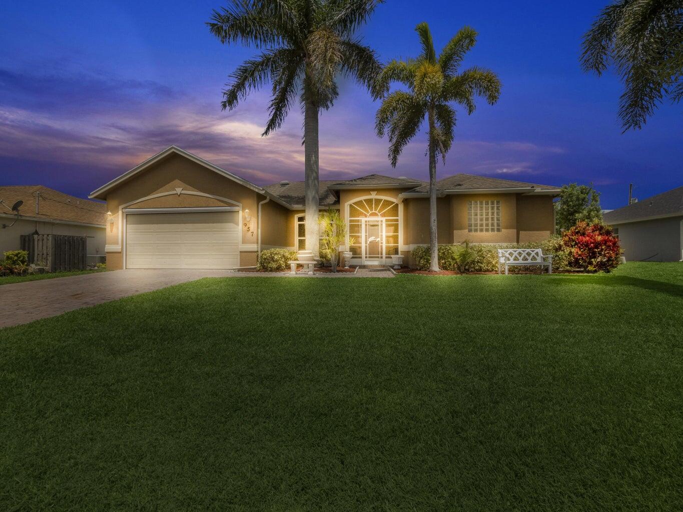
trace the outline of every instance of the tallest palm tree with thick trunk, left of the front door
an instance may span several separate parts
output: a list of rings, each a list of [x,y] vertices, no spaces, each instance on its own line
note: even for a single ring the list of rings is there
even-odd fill
[[[304,117],[306,248],[318,255],[318,115],[349,76],[370,88],[380,71],[374,51],[354,37],[384,0],[229,0],[207,23],[222,43],[262,50],[243,62],[223,91],[223,110],[272,83],[270,118],[263,136],[282,126],[298,100]]]

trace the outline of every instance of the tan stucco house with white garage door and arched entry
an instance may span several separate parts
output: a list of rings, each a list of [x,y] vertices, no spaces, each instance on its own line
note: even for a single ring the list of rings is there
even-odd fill
[[[438,241],[529,242],[553,233],[559,188],[458,174],[438,182]],[[304,184],[257,186],[168,147],[95,190],[107,201],[107,268],[255,266],[266,248],[303,248]],[[352,263],[385,264],[429,243],[428,184],[368,175],[320,182],[320,208],[338,208]]]

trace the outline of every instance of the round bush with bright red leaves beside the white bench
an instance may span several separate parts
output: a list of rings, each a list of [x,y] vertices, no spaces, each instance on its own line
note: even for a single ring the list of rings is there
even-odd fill
[[[612,228],[581,221],[562,234],[570,265],[588,272],[609,272],[619,265],[622,250]]]

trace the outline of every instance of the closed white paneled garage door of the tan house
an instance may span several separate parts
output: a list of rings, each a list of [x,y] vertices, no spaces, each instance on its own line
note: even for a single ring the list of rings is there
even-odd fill
[[[126,215],[126,268],[236,268],[239,212]]]

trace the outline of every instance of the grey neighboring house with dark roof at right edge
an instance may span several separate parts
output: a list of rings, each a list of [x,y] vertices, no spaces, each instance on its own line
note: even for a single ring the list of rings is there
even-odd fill
[[[626,261],[683,261],[683,186],[604,214]]]

